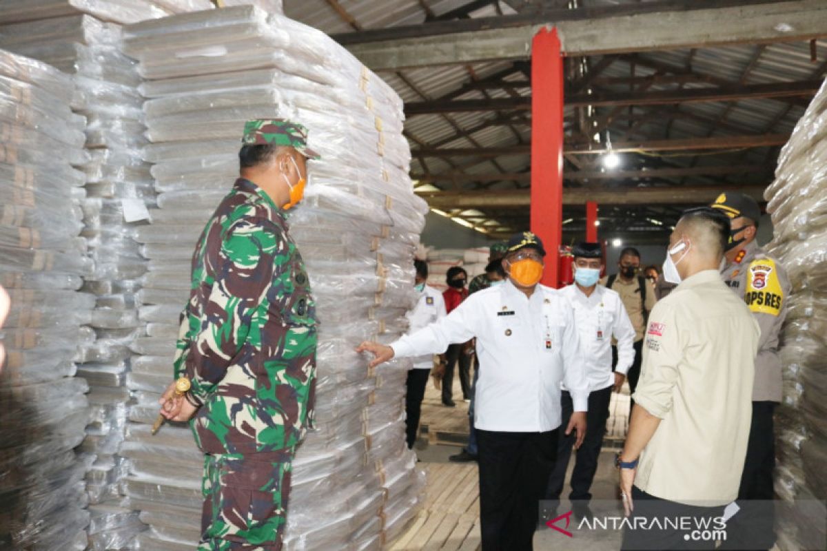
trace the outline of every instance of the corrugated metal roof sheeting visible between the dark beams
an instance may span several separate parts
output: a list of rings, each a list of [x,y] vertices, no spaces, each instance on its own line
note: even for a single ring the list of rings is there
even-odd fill
[[[449,10],[461,7],[470,0],[338,0],[338,5],[356,21],[356,26],[362,29],[385,28],[400,25],[418,24],[425,20],[427,6],[431,12],[440,15]],[[648,2],[649,0],[643,0]],[[654,0],[652,0],[654,1]],[[638,3],[639,0],[576,0],[578,6],[598,7],[618,4]],[[303,21],[308,25],[315,26],[328,34],[351,32],[354,26],[345,21],[342,16],[333,9],[327,0],[284,0],[284,11],[289,17]],[[525,2],[523,2],[525,3]],[[515,7],[520,2],[511,2]],[[564,5],[564,4],[563,4]],[[501,7],[506,7],[505,2],[500,2]],[[475,17],[489,17],[496,15],[493,6],[483,8],[471,14]],[[772,45],[733,45],[709,49],[681,49],[645,52],[634,56],[620,56],[605,69],[596,80],[595,84],[604,92],[629,92],[628,78],[630,76],[630,63],[635,62],[635,77],[647,77],[656,74],[658,67],[668,66],[681,71],[700,76],[708,77],[712,84],[700,81],[692,82],[686,80],[680,86],[682,89],[691,90],[705,88],[715,85],[715,82],[738,83],[743,79],[745,84],[754,83],[784,83],[798,82],[823,78],[825,59],[827,59],[827,40],[819,40],[816,43],[818,60],[816,63],[810,61],[810,45],[805,42],[772,44]],[[756,58],[756,55],[758,57]],[[600,60],[599,57],[591,59],[594,65]],[[474,64],[471,68],[462,65],[428,67],[424,69],[404,70],[399,73],[382,73],[380,76],[385,79],[391,87],[399,93],[404,102],[420,102],[427,99],[437,99],[446,94],[453,93],[474,78],[482,79],[491,74],[496,74],[509,68],[507,62],[490,62]],[[745,74],[746,69],[748,74]],[[611,79],[627,79],[623,83],[617,83]],[[526,76],[514,74],[510,80],[524,81]],[[608,81],[608,82],[607,82]],[[647,88],[654,92],[659,90],[675,90],[674,83],[653,83]],[[520,95],[529,96],[531,91],[528,88],[517,88]],[[457,99],[481,99],[486,97],[511,97],[511,93],[502,89],[488,89],[485,94],[480,90],[471,90]],[[801,100],[801,98],[792,98]],[[633,112],[646,112],[648,107],[635,107]],[[662,112],[679,111],[681,117],[672,121],[667,116],[646,121],[638,126],[638,132],[633,139],[641,140],[644,137],[653,140],[668,138],[680,139],[691,137],[722,136],[733,134],[755,134],[755,133],[785,133],[792,130],[796,121],[804,112],[800,105],[791,104],[784,98],[778,99],[748,99],[739,102],[686,102],[680,107],[661,106],[658,109]],[[613,111],[613,107],[599,107],[595,109],[595,116],[605,116]],[[566,108],[566,115],[573,113],[571,107]],[[484,121],[494,118],[494,112],[454,112],[446,115],[420,115],[412,116],[405,122],[405,130],[411,139],[412,147],[427,147],[439,144],[443,148],[451,147],[497,147],[515,145],[519,143],[514,131],[519,133],[520,140],[528,143],[531,139],[531,129],[522,122],[515,122],[509,126],[487,126],[482,130],[471,133],[468,136],[456,140],[445,141],[457,135],[461,131],[479,127]],[[530,116],[526,112],[526,116]],[[696,118],[691,118],[696,117]],[[721,123],[723,121],[723,123]],[[717,124],[716,124],[717,123]],[[618,117],[609,125],[609,133],[612,140],[620,140],[629,130],[628,118]],[[444,142],[444,143],[443,143]],[[719,164],[729,162],[743,163],[764,163],[768,148],[749,150],[747,154],[734,152],[728,156],[715,156]],[[633,156],[627,155],[629,159]],[[703,165],[710,163],[708,158],[703,156],[680,153],[662,155],[649,155],[641,159],[632,159],[633,164],[648,164],[658,160],[669,163],[670,166],[690,166],[693,164]],[[495,160],[495,162],[494,162]],[[594,162],[595,159],[582,159],[586,164]],[[520,172],[530,166],[530,156],[508,155],[497,159],[438,159],[428,158],[427,167],[420,164],[414,158],[411,170],[414,173],[425,172],[440,173],[457,170],[457,167],[468,167],[468,173],[491,173],[498,170],[503,172]],[[496,165],[498,166],[495,166]],[[744,178],[750,178],[744,175]],[[695,178],[696,177],[691,177]],[[509,189],[517,183],[504,182],[489,184],[491,189]],[[449,184],[451,185],[451,184]],[[475,184],[460,184],[465,188],[474,188]],[[519,183],[525,186],[527,183]]]

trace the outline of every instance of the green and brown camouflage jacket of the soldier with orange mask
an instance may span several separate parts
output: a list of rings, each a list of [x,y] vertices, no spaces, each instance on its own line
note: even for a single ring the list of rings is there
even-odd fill
[[[206,454],[280,454],[313,428],[317,320],[284,214],[244,178],[204,228],[181,314],[174,378],[203,403]],[[260,456],[260,457],[266,457]]]

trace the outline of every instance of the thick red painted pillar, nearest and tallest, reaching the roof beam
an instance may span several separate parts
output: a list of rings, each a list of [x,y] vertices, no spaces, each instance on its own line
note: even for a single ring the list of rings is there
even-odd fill
[[[563,59],[557,29],[541,29],[531,54],[531,230],[545,245],[543,285],[559,286],[563,221]]]

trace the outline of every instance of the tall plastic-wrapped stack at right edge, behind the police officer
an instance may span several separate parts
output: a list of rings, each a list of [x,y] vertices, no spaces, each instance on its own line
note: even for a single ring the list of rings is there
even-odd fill
[[[822,549],[825,511],[808,501],[827,498],[827,86],[796,125],[776,177],[764,194],[775,228],[772,253],[792,283],[781,350],[776,490],[796,502],[782,509],[779,546]]]

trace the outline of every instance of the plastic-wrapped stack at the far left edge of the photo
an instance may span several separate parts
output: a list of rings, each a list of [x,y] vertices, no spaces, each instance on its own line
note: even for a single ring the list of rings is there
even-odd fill
[[[88,420],[74,378],[92,295],[79,237],[87,159],[84,118],[69,108],[71,78],[0,51],[0,283],[12,311],[0,375],[0,548],[85,549],[84,475],[74,448]]]

